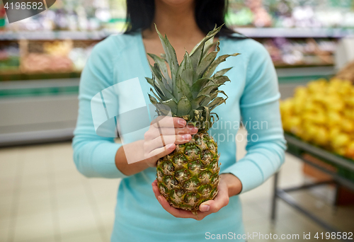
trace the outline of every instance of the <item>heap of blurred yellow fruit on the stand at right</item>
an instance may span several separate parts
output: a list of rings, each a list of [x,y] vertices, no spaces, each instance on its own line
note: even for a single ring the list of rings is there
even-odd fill
[[[311,81],[297,87],[294,98],[282,103],[280,109],[287,132],[353,156],[354,86],[350,82],[335,78]]]

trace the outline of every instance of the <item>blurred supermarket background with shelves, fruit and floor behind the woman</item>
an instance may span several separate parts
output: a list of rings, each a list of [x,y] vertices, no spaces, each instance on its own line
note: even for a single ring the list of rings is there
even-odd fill
[[[227,24],[270,53],[289,146],[279,177],[241,196],[246,230],[354,232],[354,0],[229,0]],[[0,1],[0,241],[109,241],[119,181],[77,173],[70,140],[86,59],[124,29],[124,0],[11,24]]]

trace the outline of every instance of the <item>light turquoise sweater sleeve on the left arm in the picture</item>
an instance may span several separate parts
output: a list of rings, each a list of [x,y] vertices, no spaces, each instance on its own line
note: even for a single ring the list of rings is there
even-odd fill
[[[109,50],[112,47],[115,47],[112,37],[93,47],[91,56],[81,74],[79,115],[72,147],[76,168],[87,177],[125,177],[115,166],[115,154],[121,144],[115,144],[114,138],[98,136],[91,114],[93,96],[113,85],[114,55]]]

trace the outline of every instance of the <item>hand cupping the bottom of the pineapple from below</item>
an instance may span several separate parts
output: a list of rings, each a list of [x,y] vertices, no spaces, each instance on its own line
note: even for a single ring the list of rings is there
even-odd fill
[[[159,188],[157,187],[157,181],[154,180],[154,183],[152,183],[152,190],[154,191],[156,199],[167,212],[177,218],[190,218],[196,220],[202,220],[207,217],[207,215],[218,212],[222,207],[229,204],[229,197],[239,194],[242,190],[242,184],[239,178],[235,175],[221,174],[217,188],[219,189],[217,196],[214,200],[208,200],[200,204],[200,212],[198,212],[197,216],[190,211],[172,207],[169,202],[167,202],[166,198],[160,194]]]

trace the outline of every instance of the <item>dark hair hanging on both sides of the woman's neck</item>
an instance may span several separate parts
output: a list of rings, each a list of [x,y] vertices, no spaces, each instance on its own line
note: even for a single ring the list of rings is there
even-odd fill
[[[195,0],[195,21],[205,35],[215,27],[215,24],[219,26],[224,23],[227,5],[227,0]],[[127,0],[128,28],[125,34],[151,28],[154,13],[154,0]],[[246,38],[243,35],[235,36],[234,33],[236,33],[234,30],[224,25],[217,36]]]

